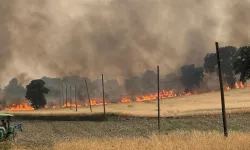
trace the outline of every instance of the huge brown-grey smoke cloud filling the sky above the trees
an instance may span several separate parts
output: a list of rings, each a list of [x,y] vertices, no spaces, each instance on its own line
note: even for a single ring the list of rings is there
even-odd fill
[[[0,81],[42,76],[112,79],[202,64],[214,42],[246,45],[249,0],[6,0]]]

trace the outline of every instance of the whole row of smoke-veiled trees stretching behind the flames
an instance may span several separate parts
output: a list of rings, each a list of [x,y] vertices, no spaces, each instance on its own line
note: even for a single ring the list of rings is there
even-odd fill
[[[221,57],[221,69],[224,83],[230,88],[235,88],[236,75],[239,75],[239,80],[245,83],[250,78],[250,48],[242,46],[236,48],[234,46],[225,46],[219,49]],[[178,89],[184,88],[185,92],[192,92],[200,87],[206,75],[218,74],[217,56],[216,53],[208,53],[204,56],[203,66],[195,66],[195,64],[185,64],[180,67],[180,74],[169,73],[165,75],[161,81],[167,81],[167,84],[161,86],[162,89]],[[86,99],[87,93],[85,81],[89,83],[89,92],[91,95],[101,96],[101,80],[91,81],[88,78],[81,78],[79,76],[67,76],[64,78],[49,78],[43,77],[41,79],[31,81],[26,88],[22,87],[17,79],[12,79],[3,89],[5,100],[16,99],[22,93],[25,93],[25,98],[28,99],[32,106],[36,109],[44,107],[47,104],[45,94],[47,96],[55,97],[61,94],[61,85],[73,84],[77,85],[77,97],[79,99]],[[121,94],[126,93],[133,95],[134,93],[156,92],[157,74],[155,71],[147,70],[142,76],[131,76],[124,79],[124,85],[119,85],[117,80],[107,80],[105,82],[106,98],[111,101],[116,101]],[[46,86],[45,86],[46,85]],[[6,102],[6,101],[4,101]]]

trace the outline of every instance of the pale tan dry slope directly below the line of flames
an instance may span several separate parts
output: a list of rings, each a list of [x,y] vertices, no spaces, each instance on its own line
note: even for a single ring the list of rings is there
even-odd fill
[[[247,111],[250,110],[249,99],[250,88],[236,89],[225,92],[227,111]],[[191,96],[182,96],[161,100],[161,116],[182,116],[189,114],[207,114],[220,112],[221,102],[220,93],[204,93]],[[133,102],[122,104],[108,104],[106,111],[109,113],[122,113],[135,116],[156,116],[157,102]],[[93,113],[102,113],[103,106],[93,107]],[[91,114],[89,108],[79,108],[78,112],[74,109],[48,109],[38,111],[20,111],[12,113],[37,114],[37,115],[60,115],[72,114],[83,115]]]

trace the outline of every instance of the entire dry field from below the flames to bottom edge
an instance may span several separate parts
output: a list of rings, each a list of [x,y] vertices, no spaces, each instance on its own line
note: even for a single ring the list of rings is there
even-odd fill
[[[109,104],[106,121],[23,120],[17,142],[0,143],[6,150],[160,150],[250,149],[250,89],[225,92],[229,137],[223,137],[220,93],[170,98],[161,101],[161,134],[157,135],[156,102]],[[231,113],[231,112],[237,113]],[[102,106],[93,107],[94,113]],[[70,109],[17,112],[32,115],[77,113]],[[89,114],[80,108],[79,114]],[[200,115],[197,115],[200,114]],[[174,117],[169,117],[174,116]]]

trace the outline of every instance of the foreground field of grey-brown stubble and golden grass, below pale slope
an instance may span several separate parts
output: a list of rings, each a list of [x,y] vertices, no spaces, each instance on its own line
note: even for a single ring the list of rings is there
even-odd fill
[[[157,119],[147,117],[110,116],[102,122],[19,120],[24,131],[18,132],[17,143],[9,149],[248,149],[250,114],[227,117],[227,139],[220,115],[162,118],[160,135]]]

